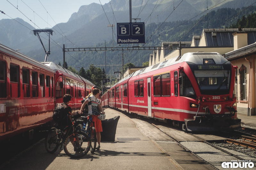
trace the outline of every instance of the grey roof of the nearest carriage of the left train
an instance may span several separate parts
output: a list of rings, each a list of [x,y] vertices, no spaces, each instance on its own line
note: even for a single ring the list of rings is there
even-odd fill
[[[37,66],[39,68],[42,68],[44,70],[54,72],[54,70],[51,69],[49,66],[44,65],[43,63],[41,63],[39,61],[36,61],[33,58],[30,58],[29,56],[24,55],[24,54],[14,50],[14,49],[12,49],[12,48],[6,47],[3,44],[0,44],[0,51],[4,52],[6,54],[12,55],[12,56],[14,56],[16,58],[19,58],[22,61],[28,62],[28,63],[30,63],[32,65],[35,65],[35,66]]]

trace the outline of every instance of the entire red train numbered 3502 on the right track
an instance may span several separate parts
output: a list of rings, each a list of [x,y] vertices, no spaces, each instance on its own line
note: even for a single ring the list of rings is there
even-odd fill
[[[102,105],[188,131],[236,129],[236,69],[218,53],[186,53],[121,79]]]

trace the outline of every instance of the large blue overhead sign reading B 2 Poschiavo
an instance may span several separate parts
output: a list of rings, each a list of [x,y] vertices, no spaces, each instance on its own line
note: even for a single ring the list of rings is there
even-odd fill
[[[145,43],[144,22],[116,23],[117,44]]]

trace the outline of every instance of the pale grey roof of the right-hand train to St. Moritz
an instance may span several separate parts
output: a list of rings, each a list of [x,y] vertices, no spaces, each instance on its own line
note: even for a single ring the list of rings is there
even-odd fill
[[[178,63],[182,63],[182,62],[189,62],[189,63],[193,63],[193,64],[203,64],[203,59],[208,58],[208,59],[213,59],[215,64],[224,64],[224,63],[230,63],[225,57],[223,57],[222,55],[220,55],[219,53],[185,53],[181,56],[177,56],[174,58],[171,58],[169,60],[163,61],[161,63],[146,67],[144,69],[141,70],[137,70],[135,71],[133,74],[130,74],[129,76],[127,76],[126,78],[130,78],[140,75],[140,74],[144,74],[150,71],[154,71],[154,70],[158,70],[170,65],[174,65],[174,64],[178,64]],[[124,81],[123,79],[120,80]]]

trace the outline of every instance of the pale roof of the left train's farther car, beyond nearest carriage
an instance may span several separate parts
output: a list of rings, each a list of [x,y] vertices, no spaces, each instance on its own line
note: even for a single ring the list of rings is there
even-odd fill
[[[88,85],[94,85],[92,82],[90,82],[89,80],[77,75],[76,73],[73,73],[72,71],[68,70],[68,69],[65,69],[63,67],[61,67],[60,65],[58,64],[55,64],[53,62],[42,62],[44,63],[45,65],[49,66],[52,70],[54,70],[56,72],[56,70],[60,70],[61,72],[65,72],[73,77],[76,77],[78,79],[82,79],[86,84]]]

